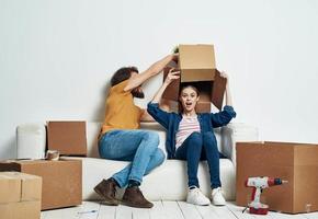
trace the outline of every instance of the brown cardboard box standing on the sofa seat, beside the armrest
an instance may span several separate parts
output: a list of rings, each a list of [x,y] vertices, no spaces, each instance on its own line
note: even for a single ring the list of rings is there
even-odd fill
[[[87,155],[86,122],[48,122],[47,147],[61,155]]]

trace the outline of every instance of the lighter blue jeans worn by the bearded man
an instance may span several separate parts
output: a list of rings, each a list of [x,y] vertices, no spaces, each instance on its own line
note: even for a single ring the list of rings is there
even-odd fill
[[[164,161],[164,153],[158,148],[159,136],[148,130],[111,130],[99,141],[100,157],[103,159],[132,161],[112,177],[120,187],[129,180],[141,184],[143,176]]]

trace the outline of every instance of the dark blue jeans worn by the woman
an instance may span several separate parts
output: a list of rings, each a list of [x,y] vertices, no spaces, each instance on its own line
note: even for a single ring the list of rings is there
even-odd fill
[[[219,152],[212,132],[193,132],[177,149],[175,158],[188,161],[188,185],[198,186],[197,168],[200,160],[207,160],[211,187],[220,187]]]

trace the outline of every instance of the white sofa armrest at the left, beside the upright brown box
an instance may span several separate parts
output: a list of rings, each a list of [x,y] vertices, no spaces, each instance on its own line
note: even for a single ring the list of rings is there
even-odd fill
[[[16,127],[16,158],[43,159],[46,148],[46,127],[42,123],[29,123]]]

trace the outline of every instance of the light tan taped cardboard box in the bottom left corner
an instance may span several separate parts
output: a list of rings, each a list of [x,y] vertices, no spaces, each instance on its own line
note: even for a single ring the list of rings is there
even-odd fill
[[[0,219],[39,219],[42,178],[0,172]]]

